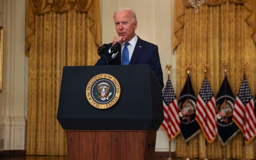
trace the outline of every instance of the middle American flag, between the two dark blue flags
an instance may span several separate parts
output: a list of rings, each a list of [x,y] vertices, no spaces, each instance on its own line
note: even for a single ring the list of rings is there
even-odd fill
[[[215,97],[205,77],[196,100],[196,121],[209,143],[214,141],[218,133],[215,108]]]

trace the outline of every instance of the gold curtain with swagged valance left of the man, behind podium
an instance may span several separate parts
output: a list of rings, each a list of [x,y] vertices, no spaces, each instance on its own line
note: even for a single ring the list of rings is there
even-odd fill
[[[100,46],[99,0],[28,1],[27,155],[67,155],[57,121],[63,66],[94,65]]]

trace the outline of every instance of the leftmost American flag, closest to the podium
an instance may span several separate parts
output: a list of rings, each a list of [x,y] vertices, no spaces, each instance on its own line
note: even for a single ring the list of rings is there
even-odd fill
[[[168,78],[163,91],[163,105],[164,121],[161,126],[167,133],[169,141],[172,141],[180,133],[180,118],[178,114],[178,101],[170,78]]]

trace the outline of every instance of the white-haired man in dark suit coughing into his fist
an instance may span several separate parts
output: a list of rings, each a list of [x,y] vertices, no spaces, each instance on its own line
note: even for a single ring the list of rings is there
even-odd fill
[[[113,54],[109,59],[110,65],[141,65],[148,64],[151,66],[156,79],[162,89],[163,71],[161,68],[158,47],[155,44],[149,43],[140,39],[135,34],[137,28],[136,14],[129,8],[120,8],[114,13],[116,32],[118,36],[114,37],[112,43],[108,44],[111,48],[116,43],[121,44],[121,49],[116,54]],[[110,53],[110,50],[107,51]],[[103,55],[107,59],[107,55]],[[95,65],[105,65],[105,61],[99,59]]]

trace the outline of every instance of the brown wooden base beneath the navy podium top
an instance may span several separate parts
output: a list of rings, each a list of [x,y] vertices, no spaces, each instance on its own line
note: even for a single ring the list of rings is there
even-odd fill
[[[67,130],[68,160],[154,160],[156,131]]]

